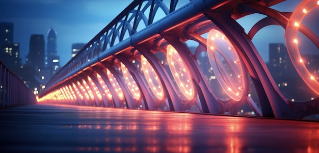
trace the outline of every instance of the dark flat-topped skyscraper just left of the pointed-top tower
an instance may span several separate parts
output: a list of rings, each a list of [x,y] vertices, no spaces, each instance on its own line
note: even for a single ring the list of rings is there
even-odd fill
[[[44,67],[44,36],[31,35],[29,54],[26,58],[26,64],[38,68]]]

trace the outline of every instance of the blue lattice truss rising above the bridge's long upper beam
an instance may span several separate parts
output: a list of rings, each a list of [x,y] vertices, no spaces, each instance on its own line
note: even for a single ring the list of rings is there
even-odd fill
[[[170,1],[169,4],[166,4],[161,0],[133,1],[55,74],[55,77],[47,83],[47,88],[59,83],[63,80],[62,78],[65,78],[72,71],[83,69],[86,65],[94,64],[96,61],[91,60],[97,57],[101,52],[139,32],[158,19],[161,19],[162,16],[166,16],[184,4],[187,4],[185,2],[187,1]],[[150,8],[150,10],[147,10],[148,8]],[[161,17],[157,17],[159,14],[158,10],[162,11]],[[148,14],[146,14],[146,12]]]

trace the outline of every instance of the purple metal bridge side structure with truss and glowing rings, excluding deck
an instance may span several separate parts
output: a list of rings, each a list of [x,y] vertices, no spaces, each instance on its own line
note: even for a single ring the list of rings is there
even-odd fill
[[[257,116],[276,118],[319,114],[319,77],[305,67],[297,43],[299,31],[319,48],[318,36],[301,22],[319,1],[303,1],[289,13],[270,8],[281,2],[194,0],[177,8],[174,0],[134,1],[48,82],[39,101],[221,114],[249,106]],[[266,17],[246,34],[236,19],[253,13]],[[312,100],[295,102],[278,89],[252,42],[267,25],[285,29],[291,61],[316,94]]]

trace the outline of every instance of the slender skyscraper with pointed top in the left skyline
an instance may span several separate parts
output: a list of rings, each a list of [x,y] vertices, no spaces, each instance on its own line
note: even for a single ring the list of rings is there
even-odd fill
[[[56,73],[60,67],[60,56],[57,55],[57,33],[53,28],[47,32],[45,67]]]

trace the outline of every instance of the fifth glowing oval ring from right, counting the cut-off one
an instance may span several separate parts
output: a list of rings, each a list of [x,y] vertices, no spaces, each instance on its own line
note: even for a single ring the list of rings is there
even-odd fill
[[[132,75],[128,72],[126,66],[121,62],[121,70],[124,77],[124,82],[128,87],[128,90],[132,94],[134,99],[140,99],[141,98],[141,92],[136,84],[135,80],[133,79]]]

